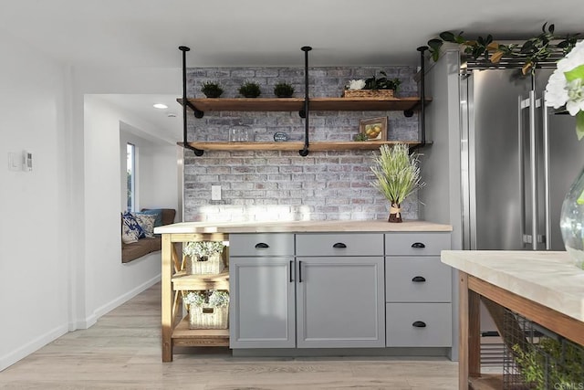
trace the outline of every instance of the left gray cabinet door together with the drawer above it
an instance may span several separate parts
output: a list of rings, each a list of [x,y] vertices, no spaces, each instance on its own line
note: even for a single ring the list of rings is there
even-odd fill
[[[296,346],[293,234],[229,237],[229,346]]]

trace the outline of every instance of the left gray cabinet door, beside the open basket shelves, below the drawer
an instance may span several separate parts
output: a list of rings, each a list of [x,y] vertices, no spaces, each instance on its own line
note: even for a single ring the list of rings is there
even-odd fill
[[[293,348],[294,258],[230,258],[231,348]]]

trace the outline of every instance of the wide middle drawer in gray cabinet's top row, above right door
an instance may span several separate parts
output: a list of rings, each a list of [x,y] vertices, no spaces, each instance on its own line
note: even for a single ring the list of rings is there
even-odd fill
[[[297,256],[382,256],[383,235],[369,233],[298,234]]]

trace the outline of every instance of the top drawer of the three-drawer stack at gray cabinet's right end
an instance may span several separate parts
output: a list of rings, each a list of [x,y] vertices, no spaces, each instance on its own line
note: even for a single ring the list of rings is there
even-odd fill
[[[386,256],[440,256],[450,249],[450,233],[388,233],[385,235]]]

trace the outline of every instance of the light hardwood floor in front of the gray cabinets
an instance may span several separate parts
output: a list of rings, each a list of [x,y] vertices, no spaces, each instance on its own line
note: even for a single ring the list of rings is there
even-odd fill
[[[184,349],[162,363],[160,284],[0,373],[0,389],[456,389],[445,358],[248,358]],[[175,350],[176,352],[176,350]]]

